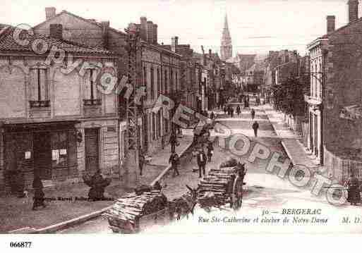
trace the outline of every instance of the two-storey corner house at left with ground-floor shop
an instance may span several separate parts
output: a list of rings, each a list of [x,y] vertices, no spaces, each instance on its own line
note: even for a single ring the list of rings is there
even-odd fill
[[[62,25],[0,30],[0,190],[31,187],[35,173],[53,184],[119,173],[117,99],[97,82],[116,56],[64,40]]]

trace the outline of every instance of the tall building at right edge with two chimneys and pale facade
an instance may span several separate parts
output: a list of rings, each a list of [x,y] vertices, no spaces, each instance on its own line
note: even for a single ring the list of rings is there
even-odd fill
[[[358,0],[348,1],[349,23],[308,45],[310,54],[310,149],[330,175],[344,182],[351,172],[362,178],[362,19]],[[354,111],[349,111],[349,106]]]

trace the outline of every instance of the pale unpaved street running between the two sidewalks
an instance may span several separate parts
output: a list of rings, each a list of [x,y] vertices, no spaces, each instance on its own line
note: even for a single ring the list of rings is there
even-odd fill
[[[236,106],[236,105],[235,105]],[[284,149],[281,145],[281,140],[284,136],[278,136],[275,130],[272,127],[269,119],[265,115],[265,111],[263,107],[260,106],[252,106],[256,111],[255,121],[258,121],[260,128],[258,131],[258,137],[254,137],[253,129],[251,125],[253,121],[251,119],[251,109],[242,109],[242,113],[240,116],[234,114],[234,118],[228,118],[227,115],[224,115],[223,112],[217,111],[218,117],[217,121],[226,125],[228,128],[232,130],[233,133],[242,133],[243,135],[248,136],[251,142],[258,142],[260,144],[265,145],[270,149],[271,152],[279,152],[279,154],[283,154],[286,157]],[[279,133],[280,134],[280,133]],[[290,138],[289,135],[286,135],[285,138]],[[229,152],[215,147],[215,154],[212,157],[212,162],[207,163],[207,169],[212,167],[219,166],[219,163],[224,161],[228,156],[230,156]],[[262,210],[269,210],[274,214],[274,216],[278,216],[281,214],[281,210],[284,208],[304,208],[304,209],[322,209],[323,214],[331,214],[334,212],[335,214],[344,214],[346,209],[349,210],[349,214],[356,214],[358,215],[361,213],[359,209],[356,209],[354,206],[344,206],[344,207],[335,207],[330,205],[327,200],[323,197],[315,197],[311,194],[310,190],[308,189],[301,189],[292,185],[289,180],[283,180],[277,175],[273,175],[265,171],[267,160],[255,160],[254,163],[249,163],[246,161],[246,157],[241,157],[241,161],[246,163],[246,168],[248,172],[246,174],[246,184],[248,187],[248,193],[243,199],[243,208],[241,209],[240,213],[245,214],[246,216],[251,216],[251,218],[255,216],[261,216]],[[164,179],[162,184],[166,184],[167,187],[164,188],[164,194],[167,196],[168,199],[174,199],[175,197],[180,197],[183,193],[187,191],[185,185],[190,185],[191,187],[196,187],[198,185],[198,172],[193,172],[193,168],[197,168],[197,164],[195,159],[188,160],[187,163],[183,164],[180,169],[181,175],[179,177],[172,177],[169,176]],[[289,207],[288,207],[289,206]],[[328,211],[327,211],[328,210]],[[203,215],[206,214],[203,210],[198,210]],[[332,211],[332,212],[331,212]],[[325,215],[323,215],[325,216]],[[284,217],[284,216],[282,216]],[[338,217],[338,216],[337,216]],[[341,216],[342,217],[342,216]],[[196,226],[200,225],[196,223],[195,219],[197,217],[191,218],[189,221],[185,221],[186,223],[190,223],[190,226],[195,225],[195,233],[197,232],[205,232],[203,230],[203,226]],[[193,225],[191,225],[193,223]],[[326,231],[333,231],[334,228],[337,231],[342,232],[360,232],[361,229],[359,226],[339,226],[340,221],[333,221],[334,227],[325,227]],[[185,224],[184,224],[185,225]],[[230,230],[229,226],[225,226],[225,230],[217,227],[218,229],[223,230],[225,233],[231,233],[231,231],[235,230],[235,232],[249,232],[251,233],[255,229],[252,226],[241,226],[234,224],[235,227]],[[331,225],[331,224],[330,224]],[[167,233],[179,233],[184,232],[186,233],[186,228],[184,226],[177,224],[171,224],[164,228],[152,228],[150,233],[155,232],[165,232]],[[175,227],[173,227],[175,226]],[[174,229],[173,229],[174,228]],[[185,230],[183,230],[185,228]],[[291,229],[291,230],[298,230],[300,228],[301,233],[305,231],[309,231],[308,227],[301,226],[283,226],[283,229]],[[313,232],[313,228],[310,228],[310,233]],[[320,229],[321,228],[321,229]],[[324,231],[324,228],[320,226],[318,230],[320,232]],[[181,229],[181,231],[180,231]],[[188,227],[189,229],[189,227]],[[205,227],[205,229],[209,229],[209,227]],[[266,226],[265,228],[260,228],[260,231],[265,229],[266,233],[270,233],[270,229]],[[275,232],[279,232],[279,227],[273,227]],[[306,230],[305,230],[306,229]],[[342,229],[342,230],[340,230]],[[190,230],[188,230],[189,232]],[[211,230],[210,230],[211,231]],[[282,230],[284,231],[284,230]],[[111,230],[108,228],[107,219],[103,217],[96,218],[94,220],[88,221],[83,223],[80,226],[76,226],[73,228],[68,228],[66,230],[60,231],[59,233],[112,233]],[[147,232],[146,232],[147,233]]]

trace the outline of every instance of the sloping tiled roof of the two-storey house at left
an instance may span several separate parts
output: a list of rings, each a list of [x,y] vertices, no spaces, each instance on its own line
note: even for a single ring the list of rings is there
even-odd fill
[[[1,27],[2,25],[0,25]],[[63,49],[68,53],[78,53],[78,54],[106,54],[111,55],[111,51],[105,49],[99,49],[96,47],[85,47],[80,44],[76,44],[74,42],[69,42],[63,39],[54,39],[51,37],[46,37],[44,35],[34,35],[29,37],[30,43],[27,46],[23,46],[18,44],[13,39],[13,31],[14,27],[9,27],[4,34],[0,35],[0,51],[32,51],[32,42],[35,39],[43,39],[44,42],[48,45],[48,49],[50,50],[52,46],[56,46],[59,49]],[[27,33],[25,33],[27,34]]]

